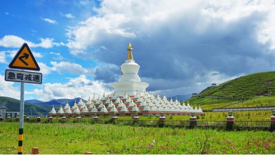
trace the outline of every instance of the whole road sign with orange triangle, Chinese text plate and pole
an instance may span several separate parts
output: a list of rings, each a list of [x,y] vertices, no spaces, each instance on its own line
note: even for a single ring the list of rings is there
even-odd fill
[[[23,70],[39,71],[40,68],[26,43],[23,43],[12,61],[8,65],[9,68],[20,70],[5,70],[5,81],[21,82],[20,92],[20,119],[18,134],[18,155],[22,155],[23,151],[23,128],[24,128],[24,83],[42,83],[42,74],[37,72],[26,72]]]

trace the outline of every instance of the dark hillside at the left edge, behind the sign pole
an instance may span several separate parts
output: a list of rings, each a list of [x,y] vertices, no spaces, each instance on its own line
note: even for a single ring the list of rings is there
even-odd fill
[[[6,110],[9,111],[19,111],[20,107],[20,101],[9,98],[9,97],[3,97],[0,96],[0,106],[5,104]],[[32,115],[37,115],[37,114],[48,114],[49,111],[51,110],[51,106],[42,106],[42,105],[33,105],[30,103],[24,103],[24,114],[25,115],[30,115],[30,111],[32,111]]]

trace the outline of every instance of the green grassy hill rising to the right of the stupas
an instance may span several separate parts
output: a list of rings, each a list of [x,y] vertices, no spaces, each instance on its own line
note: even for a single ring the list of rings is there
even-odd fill
[[[191,97],[189,103],[202,105],[209,109],[231,104],[235,107],[238,105],[242,105],[241,107],[246,107],[246,105],[268,106],[274,105],[274,96],[275,72],[262,72],[241,76],[219,86],[208,87],[197,96]],[[250,104],[246,104],[247,102]]]

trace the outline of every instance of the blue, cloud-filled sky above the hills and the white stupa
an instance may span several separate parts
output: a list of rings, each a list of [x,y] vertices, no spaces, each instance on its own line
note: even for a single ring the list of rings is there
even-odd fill
[[[200,92],[275,67],[274,1],[8,0],[0,2],[0,96],[19,98],[4,70],[27,42],[43,73],[26,99],[112,92],[132,42],[147,91]]]

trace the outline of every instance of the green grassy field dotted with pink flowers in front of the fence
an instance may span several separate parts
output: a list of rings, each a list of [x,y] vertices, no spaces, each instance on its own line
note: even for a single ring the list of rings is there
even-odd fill
[[[0,122],[0,153],[17,153],[18,123]],[[23,154],[274,154],[266,131],[25,123]]]

